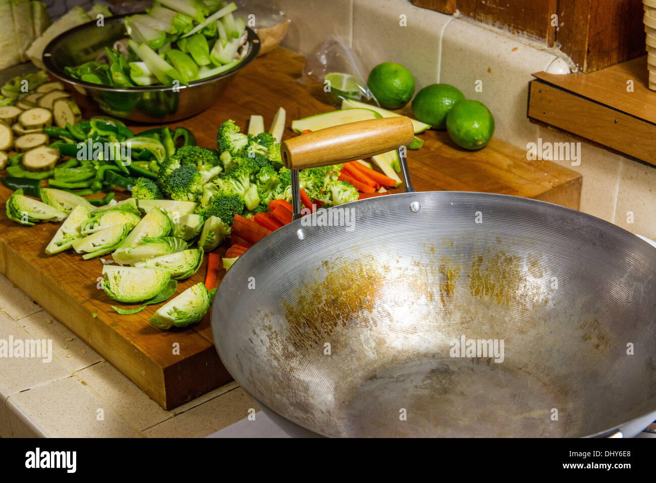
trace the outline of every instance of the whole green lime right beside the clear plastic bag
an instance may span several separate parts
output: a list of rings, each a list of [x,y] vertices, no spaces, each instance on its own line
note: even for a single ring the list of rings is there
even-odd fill
[[[369,72],[367,85],[381,107],[400,109],[415,94],[415,78],[401,64],[382,62]]]

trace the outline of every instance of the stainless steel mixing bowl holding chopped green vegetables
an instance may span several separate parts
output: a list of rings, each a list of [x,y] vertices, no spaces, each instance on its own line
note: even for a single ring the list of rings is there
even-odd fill
[[[110,116],[137,122],[165,123],[176,121],[207,109],[224,91],[233,74],[255,59],[260,51],[260,39],[247,28],[249,52],[234,68],[215,77],[190,82],[189,87],[180,85],[178,92],[172,86],[112,87],[72,78],[64,68],[78,66],[94,60],[105,47],[127,36],[123,19],[125,15],[104,20],[104,26],[96,21],[83,24],[51,41],[43,52],[43,64],[56,78],[72,84],[88,95]]]

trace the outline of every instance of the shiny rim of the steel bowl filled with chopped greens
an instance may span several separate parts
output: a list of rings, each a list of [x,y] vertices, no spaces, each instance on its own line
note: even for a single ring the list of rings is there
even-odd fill
[[[138,15],[138,14],[146,14],[146,12],[135,12],[131,14],[122,14],[122,15],[113,15],[111,17],[107,17],[104,19],[104,22],[106,23],[123,23],[123,20],[125,20],[125,17],[127,16],[132,16],[132,15]],[[202,85],[206,83],[211,83],[214,81],[218,81],[220,79],[232,76],[232,74],[235,74],[237,71],[241,70],[241,68],[247,66],[255,58],[257,57],[258,53],[260,53],[260,47],[262,45],[262,42],[260,41],[260,37],[255,33],[255,31],[250,28],[246,27],[246,31],[248,32],[248,41],[249,41],[249,52],[245,57],[241,59],[241,62],[234,66],[233,68],[230,68],[229,70],[226,70],[226,72],[222,72],[221,74],[218,74],[217,76],[209,77],[207,79],[202,79],[202,80],[195,80],[189,83],[189,85],[184,85],[180,84],[180,86],[173,86],[173,85],[139,85],[135,87],[115,87],[113,85],[104,85],[104,84],[94,84],[92,82],[87,82],[79,79],[75,79],[72,76],[69,76],[65,72],[62,72],[58,67],[54,65],[54,62],[52,60],[52,50],[66,37],[69,35],[73,35],[75,32],[79,32],[81,30],[85,30],[91,26],[96,27],[96,20],[91,20],[90,22],[86,22],[85,24],[81,24],[75,28],[72,28],[71,30],[67,30],[66,32],[57,35],[52,39],[48,45],[46,45],[45,49],[43,50],[43,55],[41,57],[41,61],[43,62],[43,65],[45,66],[46,70],[52,74],[52,76],[58,78],[59,80],[68,82],[72,85],[79,85],[80,87],[84,87],[85,89],[96,89],[98,91],[111,91],[111,92],[132,92],[132,93],[139,93],[139,92],[165,92],[165,91],[172,91],[173,89],[189,89],[191,87],[195,87],[196,85]],[[128,35],[126,34],[126,37]]]

